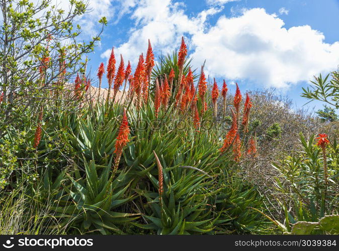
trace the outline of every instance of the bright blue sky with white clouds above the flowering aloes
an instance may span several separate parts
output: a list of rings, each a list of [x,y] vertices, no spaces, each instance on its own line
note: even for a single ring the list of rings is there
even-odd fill
[[[224,78],[232,92],[234,82],[243,92],[274,87],[302,107],[301,88],[339,65],[339,0],[92,0],[90,6],[93,12],[79,21],[84,35],[95,34],[100,16],[109,20],[90,56],[92,74],[106,65],[112,46],[134,71],[148,38],[159,55],[184,36],[194,67],[206,59],[210,77],[219,84]],[[305,107],[314,106],[322,107]]]

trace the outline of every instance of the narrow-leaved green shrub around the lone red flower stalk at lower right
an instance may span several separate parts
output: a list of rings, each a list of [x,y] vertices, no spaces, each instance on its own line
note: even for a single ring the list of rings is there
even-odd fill
[[[286,229],[290,231],[290,224],[298,221],[316,222],[329,214],[337,214],[339,198],[337,191],[338,169],[337,169],[337,145],[334,141],[332,151],[328,154],[329,184],[325,186],[323,159],[321,149],[314,146],[314,137],[307,142],[301,135],[300,141],[303,151],[292,156],[281,163],[273,164],[279,171],[285,182],[276,180],[279,193],[288,195],[288,201],[279,200],[285,214]]]

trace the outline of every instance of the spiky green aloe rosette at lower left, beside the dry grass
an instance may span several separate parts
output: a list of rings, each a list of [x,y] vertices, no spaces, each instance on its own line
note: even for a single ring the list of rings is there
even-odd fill
[[[84,162],[86,178],[80,176],[76,167],[75,179],[72,178],[68,186],[63,186],[64,193],[57,194],[58,203],[51,207],[56,217],[64,219],[58,227],[78,227],[81,233],[93,230],[103,234],[123,233],[118,225],[124,227],[128,221],[135,219],[131,216],[137,214],[119,211],[133,196],[124,196],[128,189],[126,173],[121,172],[114,178],[114,174],[110,174],[111,166],[112,158],[105,166],[96,165],[94,160]]]

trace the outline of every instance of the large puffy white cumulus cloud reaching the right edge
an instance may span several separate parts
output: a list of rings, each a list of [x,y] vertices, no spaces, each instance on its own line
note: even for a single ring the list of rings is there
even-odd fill
[[[206,59],[213,76],[277,88],[308,81],[339,63],[339,42],[324,43],[323,34],[307,25],[283,26],[283,20],[264,9],[222,16],[207,32],[192,37],[192,56],[197,62]]]

